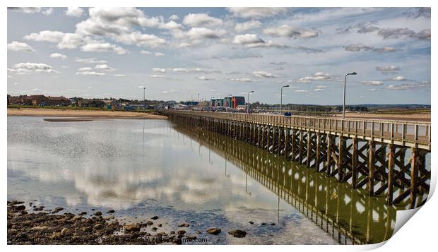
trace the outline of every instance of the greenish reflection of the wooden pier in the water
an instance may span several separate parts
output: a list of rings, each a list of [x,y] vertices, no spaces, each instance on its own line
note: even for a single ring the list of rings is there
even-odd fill
[[[377,243],[393,233],[396,208],[387,205],[385,198],[369,197],[364,190],[242,141],[210,131],[175,128],[235,164],[340,244]]]

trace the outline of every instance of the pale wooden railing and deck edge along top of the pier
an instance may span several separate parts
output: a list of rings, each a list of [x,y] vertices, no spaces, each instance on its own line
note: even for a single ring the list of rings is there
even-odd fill
[[[424,150],[430,150],[431,148],[431,128],[430,123],[427,122],[183,110],[165,110],[162,112],[297,128],[305,131],[376,140],[381,143],[393,143]]]

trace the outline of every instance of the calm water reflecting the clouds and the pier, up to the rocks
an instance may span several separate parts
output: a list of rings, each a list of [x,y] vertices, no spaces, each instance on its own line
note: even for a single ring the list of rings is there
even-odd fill
[[[189,234],[209,244],[338,244],[344,234],[379,242],[395,224],[395,209],[382,198],[165,120],[8,117],[8,199],[74,213],[114,209],[126,223],[158,215],[174,230],[187,221]],[[223,232],[212,239],[209,227]],[[247,237],[227,235],[232,229]]]

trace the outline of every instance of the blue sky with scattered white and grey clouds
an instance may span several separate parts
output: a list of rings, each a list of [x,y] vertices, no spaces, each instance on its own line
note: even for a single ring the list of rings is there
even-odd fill
[[[430,104],[430,8],[9,8],[8,94]],[[245,95],[246,96],[246,95]]]

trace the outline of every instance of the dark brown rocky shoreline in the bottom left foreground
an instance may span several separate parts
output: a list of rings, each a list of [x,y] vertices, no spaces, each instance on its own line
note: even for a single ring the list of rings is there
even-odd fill
[[[162,223],[153,222],[159,219],[156,215],[146,223],[121,224],[114,217],[114,210],[108,210],[105,217],[100,211],[85,217],[87,212],[59,214],[64,208],[42,211],[42,205],[29,205],[27,209],[23,201],[8,201],[7,244],[205,244],[222,232],[212,227],[201,238],[188,234],[184,227],[190,224],[185,222],[175,230],[163,232]],[[236,229],[228,235],[243,238],[247,232]]]

